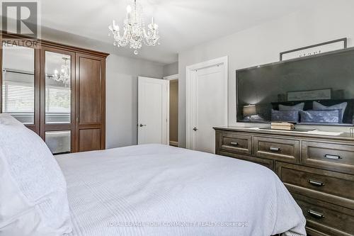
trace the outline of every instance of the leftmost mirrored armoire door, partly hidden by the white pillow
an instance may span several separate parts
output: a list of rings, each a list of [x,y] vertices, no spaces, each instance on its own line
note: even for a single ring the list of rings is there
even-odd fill
[[[1,47],[1,113],[8,113],[26,127],[39,133],[39,72],[35,60],[39,50],[14,47],[10,42]]]

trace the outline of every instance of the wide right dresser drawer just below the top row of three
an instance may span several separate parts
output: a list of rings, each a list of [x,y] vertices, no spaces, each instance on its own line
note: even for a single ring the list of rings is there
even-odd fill
[[[312,192],[315,198],[354,209],[353,175],[282,162],[275,163],[275,171],[289,191],[297,189],[301,192],[302,188],[314,190],[318,192]],[[303,195],[307,194],[303,192]]]

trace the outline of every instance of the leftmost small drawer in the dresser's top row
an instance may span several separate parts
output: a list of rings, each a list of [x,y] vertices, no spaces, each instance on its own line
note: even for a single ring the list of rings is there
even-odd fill
[[[220,133],[219,149],[242,154],[252,153],[252,136],[237,133]]]

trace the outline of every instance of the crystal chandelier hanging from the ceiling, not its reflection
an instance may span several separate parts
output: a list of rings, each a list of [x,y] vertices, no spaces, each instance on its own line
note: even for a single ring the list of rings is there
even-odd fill
[[[115,42],[113,45],[118,47],[125,47],[128,44],[134,50],[134,54],[138,55],[138,50],[142,47],[144,42],[147,46],[159,45],[159,26],[152,17],[152,23],[149,23],[147,30],[145,30],[144,13],[142,6],[137,4],[134,0],[132,6],[127,6],[127,18],[123,24],[123,35],[120,35],[120,28],[113,20],[112,25],[109,27],[110,34],[113,34]],[[110,35],[109,34],[109,35]]]

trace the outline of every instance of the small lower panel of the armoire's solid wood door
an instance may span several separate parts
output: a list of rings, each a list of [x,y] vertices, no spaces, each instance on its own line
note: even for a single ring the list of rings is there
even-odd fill
[[[101,129],[79,131],[79,152],[101,150]]]

